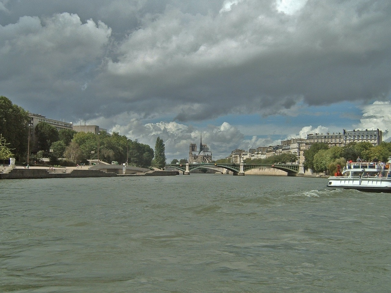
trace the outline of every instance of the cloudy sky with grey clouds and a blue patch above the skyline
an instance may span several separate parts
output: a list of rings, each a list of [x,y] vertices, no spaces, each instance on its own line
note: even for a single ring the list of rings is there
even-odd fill
[[[391,122],[389,0],[0,0],[0,95],[188,157]]]

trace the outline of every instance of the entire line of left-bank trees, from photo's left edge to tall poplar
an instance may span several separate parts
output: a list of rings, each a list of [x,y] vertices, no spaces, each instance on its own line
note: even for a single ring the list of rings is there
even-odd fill
[[[15,157],[19,163],[27,162],[27,144],[29,143],[29,116],[23,108],[12,104],[5,96],[0,96],[0,159]],[[36,144],[30,144],[31,150],[38,150],[36,159],[48,157],[52,162],[67,158],[73,163],[86,163],[88,159],[117,161],[139,167],[165,166],[165,145],[159,137],[155,151],[137,140],[114,132],[93,134],[61,129],[47,122],[35,127]],[[32,156],[30,157],[32,159]],[[27,162],[29,163],[29,162]]]

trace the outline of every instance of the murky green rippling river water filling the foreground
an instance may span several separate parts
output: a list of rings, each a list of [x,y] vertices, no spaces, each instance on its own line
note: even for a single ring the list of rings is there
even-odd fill
[[[1,292],[390,292],[389,195],[308,177],[1,180]]]

